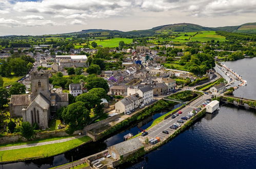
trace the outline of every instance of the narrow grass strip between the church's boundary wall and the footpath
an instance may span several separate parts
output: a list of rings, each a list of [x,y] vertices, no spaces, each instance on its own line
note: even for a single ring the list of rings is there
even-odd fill
[[[32,140],[32,141],[0,144],[0,147],[24,145],[24,144],[33,144],[33,143],[38,143],[38,142],[46,142],[46,141],[54,141],[54,140],[61,140],[61,139],[64,139],[64,138],[69,138],[69,137],[73,137],[73,136],[61,136],[61,137],[44,138],[44,139],[38,139],[38,140]]]

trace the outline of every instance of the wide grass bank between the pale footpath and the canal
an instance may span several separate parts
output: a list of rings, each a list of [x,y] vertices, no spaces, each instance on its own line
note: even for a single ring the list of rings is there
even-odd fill
[[[84,136],[82,138],[48,145],[34,146],[24,149],[15,149],[0,151],[0,156],[2,156],[3,161],[17,161],[17,160],[28,160],[33,158],[45,158],[54,156],[57,154],[62,154],[66,151],[74,149],[88,141],[91,138]]]

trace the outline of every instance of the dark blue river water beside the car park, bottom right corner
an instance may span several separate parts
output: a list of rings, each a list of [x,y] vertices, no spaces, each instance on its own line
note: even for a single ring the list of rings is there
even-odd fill
[[[256,168],[256,113],[221,107],[133,165],[120,168]]]

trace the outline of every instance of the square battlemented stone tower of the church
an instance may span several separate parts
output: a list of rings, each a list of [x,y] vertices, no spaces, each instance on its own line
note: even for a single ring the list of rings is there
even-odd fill
[[[48,100],[50,100],[50,88],[49,88],[49,75],[44,71],[32,72],[31,78],[31,100],[42,93]]]

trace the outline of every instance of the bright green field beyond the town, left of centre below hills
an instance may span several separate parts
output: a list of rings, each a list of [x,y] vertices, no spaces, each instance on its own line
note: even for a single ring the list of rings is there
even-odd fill
[[[113,39],[106,39],[106,40],[94,40],[97,45],[101,45],[103,47],[109,47],[109,48],[114,48],[114,47],[119,47],[119,41],[124,41],[125,44],[130,44],[132,43],[132,39],[129,38],[113,38]],[[92,43],[93,41],[90,41]]]

